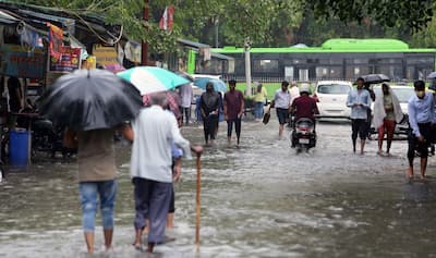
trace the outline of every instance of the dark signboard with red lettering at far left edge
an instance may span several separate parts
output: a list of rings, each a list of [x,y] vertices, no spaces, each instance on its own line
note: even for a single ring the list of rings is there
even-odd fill
[[[0,74],[22,78],[43,78],[45,54],[41,50],[28,51],[17,45],[0,47]]]

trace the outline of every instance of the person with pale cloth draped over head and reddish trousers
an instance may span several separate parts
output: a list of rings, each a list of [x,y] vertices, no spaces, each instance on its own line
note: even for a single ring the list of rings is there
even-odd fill
[[[378,131],[378,155],[383,153],[383,138],[386,132],[386,153],[389,155],[392,144],[396,123],[403,118],[400,102],[392,89],[387,84],[382,85],[382,94],[377,95],[374,102],[373,124]]]

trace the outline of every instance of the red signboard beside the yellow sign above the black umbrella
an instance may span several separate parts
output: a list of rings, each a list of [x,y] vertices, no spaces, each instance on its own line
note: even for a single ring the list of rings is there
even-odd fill
[[[80,48],[63,47],[60,59],[50,57],[50,71],[72,72],[78,69],[80,58]]]

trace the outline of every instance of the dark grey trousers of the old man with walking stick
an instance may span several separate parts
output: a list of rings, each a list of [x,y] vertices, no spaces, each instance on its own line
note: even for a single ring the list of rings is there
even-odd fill
[[[172,183],[134,177],[135,230],[145,228],[149,219],[148,243],[164,243]]]

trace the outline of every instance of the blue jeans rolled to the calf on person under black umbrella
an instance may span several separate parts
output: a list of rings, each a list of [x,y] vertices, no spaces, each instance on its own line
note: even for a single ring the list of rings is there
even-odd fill
[[[85,232],[93,232],[97,213],[97,194],[100,198],[101,223],[105,230],[113,229],[113,207],[117,196],[117,181],[78,183],[82,202],[82,222]]]

